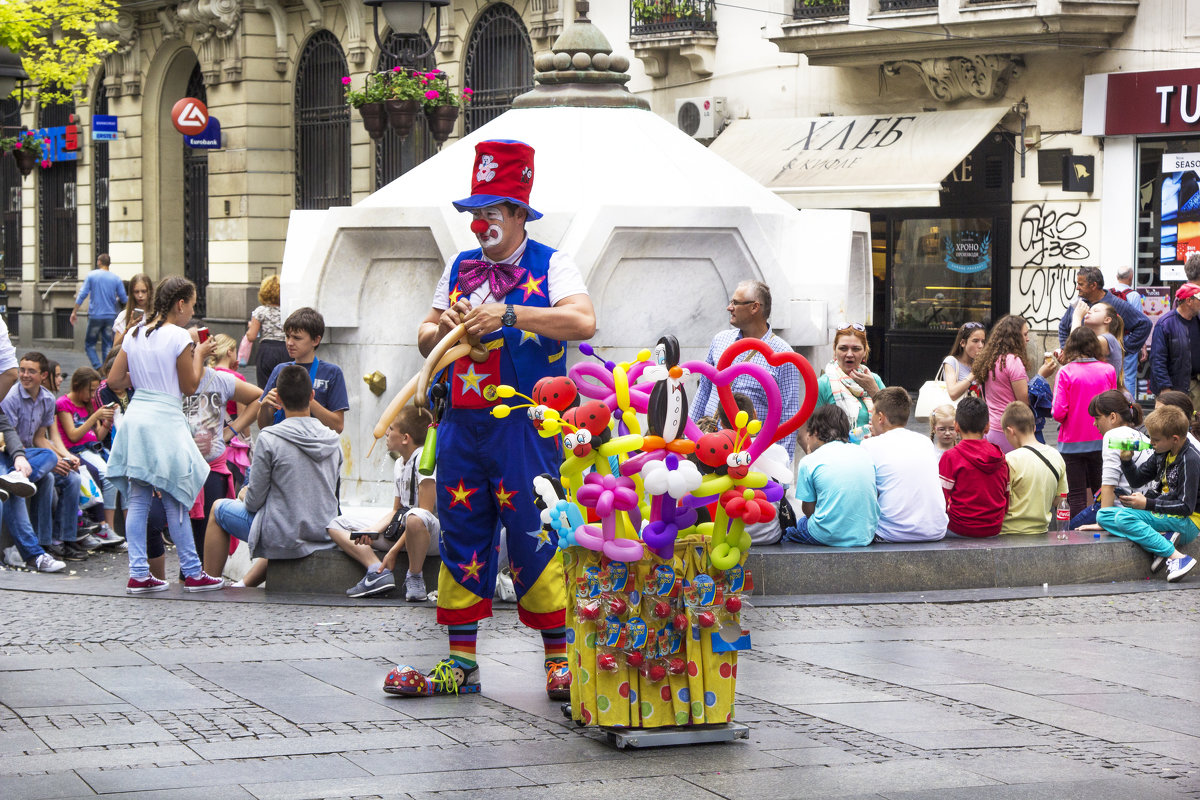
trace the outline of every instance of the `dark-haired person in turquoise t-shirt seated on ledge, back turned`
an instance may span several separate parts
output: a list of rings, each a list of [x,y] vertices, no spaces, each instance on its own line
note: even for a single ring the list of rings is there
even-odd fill
[[[836,405],[822,405],[800,432],[808,457],[796,474],[796,499],[804,516],[784,541],[829,547],[866,547],[875,539],[880,503],[875,464],[866,450],[850,444],[850,419]]]

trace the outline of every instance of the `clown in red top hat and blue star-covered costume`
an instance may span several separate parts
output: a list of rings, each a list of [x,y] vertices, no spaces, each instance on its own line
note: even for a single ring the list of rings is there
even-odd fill
[[[446,266],[418,332],[428,355],[466,325],[486,360],[476,353],[451,366],[449,408],[438,427],[438,624],[449,628],[450,652],[428,673],[396,667],[384,681],[392,694],[480,691],[475,640],[479,620],[492,615],[503,525],[517,613],[542,634],[546,691],[551,699],[570,697],[563,566],[542,535],[530,488],[538,475],[558,473],[562,452],[523,415],[490,414],[500,402],[496,386],[532,395],[539,379],[566,374],[565,339],[595,333],[595,311],[575,261],[526,235],[526,223],[541,217],[529,206],[533,157],[533,148],[521,142],[475,145],[470,197],[454,205],[472,215],[480,246]]]

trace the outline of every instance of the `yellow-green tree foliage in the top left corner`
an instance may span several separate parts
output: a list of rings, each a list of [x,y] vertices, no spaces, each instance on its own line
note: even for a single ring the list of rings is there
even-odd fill
[[[116,48],[100,32],[116,11],[118,0],[0,0],[0,44],[20,55],[42,104],[77,100],[89,72]]]

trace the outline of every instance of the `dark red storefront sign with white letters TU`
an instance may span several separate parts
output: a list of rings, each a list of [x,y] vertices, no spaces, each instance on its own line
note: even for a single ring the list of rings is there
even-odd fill
[[[1106,84],[1105,136],[1200,133],[1200,70],[1114,72]]]

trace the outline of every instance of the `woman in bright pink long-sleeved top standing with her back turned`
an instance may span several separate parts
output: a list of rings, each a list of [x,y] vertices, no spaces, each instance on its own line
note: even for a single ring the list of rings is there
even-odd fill
[[[1051,413],[1058,422],[1058,452],[1067,463],[1067,501],[1074,517],[1100,489],[1104,434],[1087,413],[1092,398],[1117,387],[1112,365],[1100,361],[1100,339],[1090,327],[1076,327],[1062,348],[1062,368],[1054,385]]]

